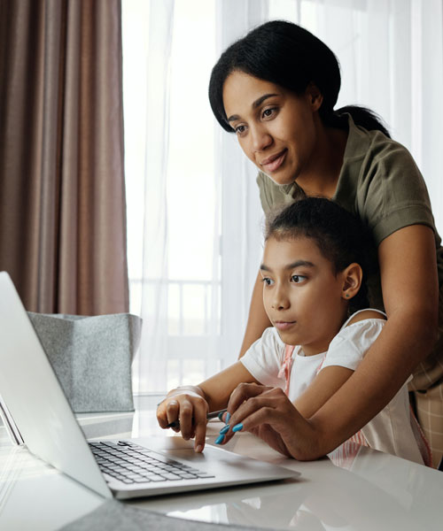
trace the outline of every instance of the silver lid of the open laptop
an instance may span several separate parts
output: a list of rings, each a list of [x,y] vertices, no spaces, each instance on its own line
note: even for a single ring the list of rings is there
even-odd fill
[[[27,448],[112,497],[8,273],[0,273],[0,395]]]

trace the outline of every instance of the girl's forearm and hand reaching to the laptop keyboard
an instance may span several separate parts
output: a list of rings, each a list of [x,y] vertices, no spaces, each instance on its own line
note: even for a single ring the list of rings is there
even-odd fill
[[[157,408],[159,426],[166,428],[175,420],[180,421],[183,438],[195,436],[194,448],[205,447],[206,413],[218,411],[228,404],[230,393],[241,382],[257,382],[239,361],[198,386],[185,386],[169,391]]]

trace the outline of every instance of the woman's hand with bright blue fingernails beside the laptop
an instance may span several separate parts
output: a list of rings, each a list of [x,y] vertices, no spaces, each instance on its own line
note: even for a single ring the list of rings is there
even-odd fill
[[[299,460],[317,458],[315,428],[304,419],[283,389],[254,383],[237,386],[228,404],[227,443],[236,431],[248,431],[287,457]]]

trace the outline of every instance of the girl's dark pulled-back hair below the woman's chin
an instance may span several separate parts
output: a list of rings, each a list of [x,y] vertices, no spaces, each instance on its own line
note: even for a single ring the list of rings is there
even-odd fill
[[[363,271],[361,288],[349,301],[349,312],[368,308],[366,277],[369,270],[369,235],[359,219],[323,197],[307,197],[285,207],[269,219],[265,240],[291,241],[299,236],[314,240],[337,274],[357,263]]]

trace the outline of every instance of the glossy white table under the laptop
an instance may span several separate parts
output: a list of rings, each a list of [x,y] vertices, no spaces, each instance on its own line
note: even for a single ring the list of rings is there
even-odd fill
[[[154,408],[158,397],[139,401],[136,413],[82,415],[89,438],[124,438],[163,433]],[[220,422],[208,425],[214,443]],[[3,429],[3,428],[0,428]],[[400,458],[348,447],[329,458],[301,463],[286,459],[249,434],[237,434],[227,449],[276,462],[301,473],[297,481],[128,502],[183,519],[272,529],[443,529],[443,473]],[[49,530],[93,511],[104,500],[79,483],[12,448],[0,431],[0,529]]]

